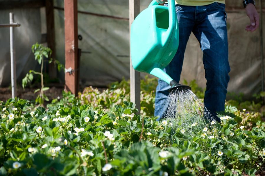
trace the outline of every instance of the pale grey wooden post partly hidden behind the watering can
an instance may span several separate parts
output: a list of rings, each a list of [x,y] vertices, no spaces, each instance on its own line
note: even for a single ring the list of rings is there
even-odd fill
[[[130,11],[130,33],[131,33],[131,24],[140,13],[140,0],[129,0],[129,11]],[[139,110],[138,114],[141,111],[140,105],[140,72],[135,71],[132,68],[132,59],[130,54],[130,100],[132,103],[136,104],[136,108]]]

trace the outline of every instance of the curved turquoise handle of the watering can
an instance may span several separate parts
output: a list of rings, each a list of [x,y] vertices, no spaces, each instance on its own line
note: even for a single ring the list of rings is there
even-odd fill
[[[150,6],[158,5],[159,3],[156,0],[153,0]],[[168,0],[168,15],[169,15],[169,26],[168,30],[162,38],[163,43],[167,40],[170,40],[170,35],[172,34],[173,30],[176,30],[176,10],[175,10],[175,0]]]

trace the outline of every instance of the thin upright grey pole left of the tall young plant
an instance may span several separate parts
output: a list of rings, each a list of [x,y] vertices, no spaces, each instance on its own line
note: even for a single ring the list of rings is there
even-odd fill
[[[14,13],[9,13],[9,23],[14,23]],[[10,60],[11,60],[11,86],[12,98],[16,97],[16,52],[14,48],[14,27],[10,27]]]

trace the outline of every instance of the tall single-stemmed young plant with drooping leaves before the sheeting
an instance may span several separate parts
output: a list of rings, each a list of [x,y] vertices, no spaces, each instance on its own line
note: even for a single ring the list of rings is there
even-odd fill
[[[44,91],[49,90],[49,87],[44,87],[43,82],[43,63],[44,63],[44,57],[49,58],[52,54],[52,50],[48,47],[43,46],[42,44],[36,43],[32,45],[32,52],[34,53],[35,60],[41,65],[41,71],[36,72],[34,70],[30,70],[29,73],[25,76],[25,78],[22,79],[22,87],[23,89],[25,86],[27,86],[28,83],[32,82],[33,80],[33,74],[40,75],[41,77],[41,88],[38,88],[34,91],[34,93],[39,92],[39,95],[37,96],[35,102],[39,105],[43,105],[44,100],[49,101],[48,97],[44,94]],[[50,58],[49,63],[52,63],[54,59]],[[63,68],[63,65],[59,63],[59,61],[54,60],[54,62],[57,64],[57,68],[60,71],[61,68]]]

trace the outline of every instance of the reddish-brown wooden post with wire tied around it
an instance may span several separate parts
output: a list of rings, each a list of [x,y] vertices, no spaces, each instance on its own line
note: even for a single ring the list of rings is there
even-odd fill
[[[65,35],[65,91],[77,96],[79,84],[77,0],[64,0],[64,35]]]

